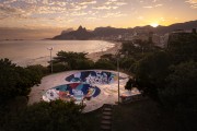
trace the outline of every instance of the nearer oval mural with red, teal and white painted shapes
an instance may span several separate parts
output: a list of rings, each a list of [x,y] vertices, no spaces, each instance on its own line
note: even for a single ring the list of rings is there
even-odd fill
[[[101,90],[96,86],[82,83],[71,83],[59,85],[48,90],[44,95],[43,99],[46,102],[62,99],[62,100],[76,100],[81,103],[83,98],[90,99],[96,97],[101,93]]]

